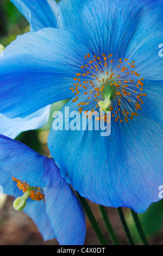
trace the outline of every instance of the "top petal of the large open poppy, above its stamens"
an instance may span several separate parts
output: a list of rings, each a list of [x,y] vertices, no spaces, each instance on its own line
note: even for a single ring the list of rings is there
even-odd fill
[[[162,0],[62,0],[58,27],[76,35],[90,53],[112,53],[118,60],[127,48],[163,33],[162,7]]]

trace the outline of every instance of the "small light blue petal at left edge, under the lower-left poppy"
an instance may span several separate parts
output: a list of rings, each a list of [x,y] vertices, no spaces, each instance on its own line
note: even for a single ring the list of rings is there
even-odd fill
[[[0,168],[0,186],[3,187],[3,193],[14,196],[14,185],[8,172]],[[0,191],[1,193],[1,191]]]

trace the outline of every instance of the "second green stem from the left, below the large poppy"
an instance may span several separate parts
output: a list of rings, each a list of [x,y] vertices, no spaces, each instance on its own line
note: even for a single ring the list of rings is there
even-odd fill
[[[108,233],[109,233],[109,236],[110,236],[110,239],[111,239],[112,243],[114,243],[114,245],[119,245],[120,243],[118,242],[117,236],[114,233],[114,230],[112,229],[112,226],[111,226],[111,223],[109,221],[108,214],[106,212],[105,207],[102,206],[102,205],[98,205],[98,208],[99,208],[99,211],[101,212],[101,216],[104,220],[106,229],[108,230]]]

